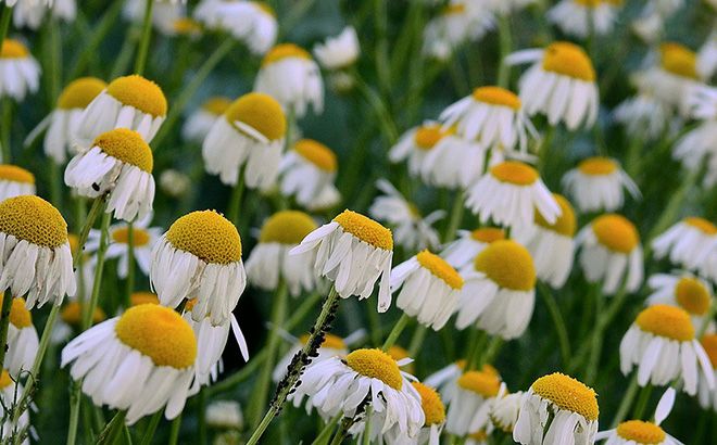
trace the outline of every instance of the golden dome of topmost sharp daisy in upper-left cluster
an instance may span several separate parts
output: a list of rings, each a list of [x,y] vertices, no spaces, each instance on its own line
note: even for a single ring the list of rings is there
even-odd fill
[[[112,80],[108,85],[108,94],[154,117],[167,114],[167,100],[160,86],[137,74]]]

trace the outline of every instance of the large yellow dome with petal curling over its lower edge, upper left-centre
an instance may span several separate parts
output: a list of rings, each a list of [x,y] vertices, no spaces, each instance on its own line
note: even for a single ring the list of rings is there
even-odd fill
[[[240,122],[275,141],[287,132],[287,119],[276,99],[262,92],[250,92],[237,99],[224,112],[229,124]]]

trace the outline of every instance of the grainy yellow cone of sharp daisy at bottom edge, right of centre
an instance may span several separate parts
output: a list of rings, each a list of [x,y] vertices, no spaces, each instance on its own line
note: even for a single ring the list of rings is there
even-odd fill
[[[598,420],[598,394],[592,387],[569,376],[559,372],[543,376],[531,387],[533,393],[561,409],[577,412],[588,420]]]

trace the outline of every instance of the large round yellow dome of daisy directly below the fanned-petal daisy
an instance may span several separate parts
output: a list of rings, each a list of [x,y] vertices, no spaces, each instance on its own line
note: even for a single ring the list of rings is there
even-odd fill
[[[476,256],[475,267],[504,289],[529,291],[536,287],[536,267],[530,252],[512,240],[489,244]]]

